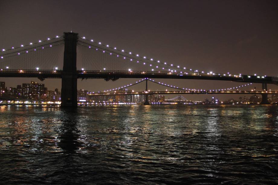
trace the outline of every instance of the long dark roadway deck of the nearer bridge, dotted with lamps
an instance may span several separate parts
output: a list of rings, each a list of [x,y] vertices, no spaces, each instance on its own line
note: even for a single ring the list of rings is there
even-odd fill
[[[63,75],[73,75],[63,70],[25,70],[25,69],[0,69],[0,77],[25,77],[25,78],[62,78]],[[103,78],[105,80],[117,80],[119,78],[172,78],[195,80],[224,80],[247,83],[278,84],[278,77],[231,75],[231,74],[207,74],[198,72],[154,72],[154,71],[81,71],[77,70],[77,78]]]

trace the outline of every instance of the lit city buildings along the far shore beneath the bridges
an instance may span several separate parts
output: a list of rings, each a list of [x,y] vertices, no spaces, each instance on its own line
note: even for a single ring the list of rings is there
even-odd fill
[[[3,88],[4,87],[4,88]],[[4,92],[5,89],[5,92]],[[21,85],[17,85],[17,87],[9,87],[6,86],[5,82],[0,81],[0,97],[4,96],[6,94],[13,95],[10,97],[14,98],[22,98],[22,99],[34,99],[34,100],[56,100],[60,101],[61,100],[61,92],[59,91],[58,88],[55,88],[54,91],[49,90],[47,87],[44,86],[43,83],[37,83],[35,81],[31,81],[31,83],[22,83]],[[92,96],[88,97],[88,94],[92,93],[92,91],[89,90],[84,90],[80,89],[77,90],[77,100],[78,102],[87,102],[87,101],[96,101],[96,102],[102,102],[102,101],[112,101],[112,102],[144,102],[145,97],[144,95],[99,95],[99,96]],[[14,96],[15,95],[15,96]],[[219,94],[218,94],[219,95]],[[217,95],[217,96],[218,96]],[[138,97],[137,97],[138,96]],[[161,96],[161,98],[159,98]],[[176,96],[176,95],[175,95]],[[183,95],[184,96],[184,95]],[[239,98],[238,100],[233,98],[233,97],[228,97],[225,100],[218,100],[217,97],[212,96],[211,94],[207,95],[210,96],[212,99],[211,101],[208,100],[208,98],[205,98],[205,100],[201,100],[202,102],[213,102],[213,104],[223,104],[225,103],[260,103],[260,95],[256,96],[250,95],[250,96],[244,96],[238,95]],[[128,98],[127,98],[128,97]],[[159,99],[157,99],[159,98]],[[270,103],[277,103],[278,101],[278,96],[277,95],[271,95],[268,97],[270,100]],[[135,101],[133,100],[135,99]],[[169,100],[170,97],[166,98],[165,95],[158,95],[158,94],[152,94],[149,97],[149,102],[164,102],[164,100]],[[162,101],[161,101],[162,100]],[[216,101],[215,101],[216,100]],[[199,101],[199,100],[192,100],[190,101]]]

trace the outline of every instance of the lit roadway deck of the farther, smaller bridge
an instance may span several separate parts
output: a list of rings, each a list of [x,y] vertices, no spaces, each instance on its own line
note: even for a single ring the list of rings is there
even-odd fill
[[[142,94],[278,94],[275,91],[148,91],[146,92],[110,92],[110,93],[89,93],[89,96],[97,95],[142,95]]]

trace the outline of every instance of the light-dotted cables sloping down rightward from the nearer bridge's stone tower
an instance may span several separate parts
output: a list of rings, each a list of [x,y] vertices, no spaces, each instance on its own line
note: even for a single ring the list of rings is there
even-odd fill
[[[134,59],[134,58],[136,58],[136,59],[138,59],[138,58],[141,58],[141,59],[144,59],[144,60],[149,60],[149,61],[152,61],[152,62],[156,62],[156,63],[160,63],[160,64],[162,64],[163,62],[160,62],[159,60],[154,60],[154,59],[152,59],[152,58],[150,58],[150,59],[148,59],[147,57],[145,57],[145,56],[139,56],[138,54],[133,54],[133,53],[131,53],[131,52],[126,52],[126,51],[124,51],[124,49],[117,49],[116,47],[111,47],[111,46],[109,46],[109,45],[104,45],[104,44],[102,44],[101,42],[95,42],[94,40],[89,40],[89,39],[86,39],[86,37],[79,37],[79,43],[83,43],[83,44],[85,44],[87,47],[90,47],[90,46],[96,46],[96,47],[99,47],[100,49],[105,49],[105,50],[107,50],[108,51],[108,49],[109,49],[109,51],[110,52],[114,52],[114,53],[117,53],[117,54],[119,54],[119,55],[121,55],[121,56],[124,56],[124,57],[129,57],[130,59]],[[150,63],[150,62],[148,62],[148,63]],[[173,65],[173,64],[167,64],[167,62],[164,62],[163,63],[165,66],[167,66],[167,67],[170,67],[170,68],[172,68],[173,69],[173,71],[170,69],[170,71],[171,72],[174,72],[174,70],[176,70],[176,71],[183,71],[183,70],[186,70],[186,71],[189,71],[189,72],[197,72],[197,73],[205,73],[205,72],[199,72],[198,70],[193,70],[192,71],[192,69],[186,69],[186,67],[180,67],[179,65]],[[163,69],[163,70],[169,70],[169,69]],[[217,75],[216,73],[212,73],[212,72],[208,72],[208,74],[213,74],[213,75]],[[229,73],[228,73],[229,74]],[[218,75],[224,75],[224,73],[222,73],[222,74],[218,74]],[[231,75],[231,74],[230,74]],[[233,75],[233,76],[241,76],[241,74],[240,75]]]

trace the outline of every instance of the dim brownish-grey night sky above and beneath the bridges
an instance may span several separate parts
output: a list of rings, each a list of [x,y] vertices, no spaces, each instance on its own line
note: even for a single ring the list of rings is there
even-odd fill
[[[278,1],[1,1],[0,48],[72,30],[82,37],[199,71],[278,76],[277,10]],[[31,80],[39,82],[36,78],[0,78],[7,87]],[[134,81],[78,80],[78,88],[99,91]],[[238,85],[160,81],[189,88]],[[49,90],[61,89],[60,79],[43,83]],[[185,97],[203,100],[211,95]]]

